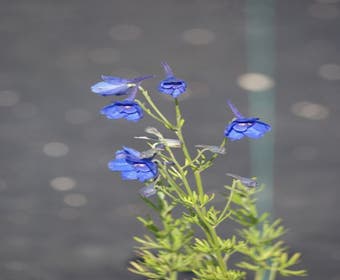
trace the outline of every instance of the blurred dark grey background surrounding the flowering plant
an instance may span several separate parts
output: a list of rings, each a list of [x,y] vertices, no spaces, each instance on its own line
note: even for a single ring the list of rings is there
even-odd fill
[[[245,115],[263,100],[252,113],[274,127],[258,143],[274,141],[263,166],[275,215],[307,278],[339,280],[339,2],[0,0],[0,278],[138,279],[126,267],[148,209],[139,183],[106,165],[122,145],[144,149],[133,136],[154,122],[105,119],[111,99],[89,88],[101,74],[156,74],[144,86],[172,116],[155,90],[166,60],[189,84],[190,144],[220,142],[228,98]],[[252,149],[231,143],[207,188],[249,176]]]

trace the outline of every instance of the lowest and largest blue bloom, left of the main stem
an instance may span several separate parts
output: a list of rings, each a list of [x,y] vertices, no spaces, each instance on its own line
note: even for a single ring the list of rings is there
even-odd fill
[[[108,167],[122,172],[124,180],[145,182],[158,176],[158,167],[152,158],[141,158],[140,152],[128,147],[117,151],[116,158],[109,162]]]

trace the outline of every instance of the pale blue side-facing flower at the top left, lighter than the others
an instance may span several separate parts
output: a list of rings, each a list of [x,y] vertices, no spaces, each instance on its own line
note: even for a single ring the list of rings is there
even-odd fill
[[[131,87],[131,84],[138,83],[145,79],[152,78],[153,76],[137,77],[134,79],[124,79],[112,76],[102,76],[103,81],[94,84],[91,87],[92,92],[102,96],[107,95],[124,95],[127,94],[127,90]]]

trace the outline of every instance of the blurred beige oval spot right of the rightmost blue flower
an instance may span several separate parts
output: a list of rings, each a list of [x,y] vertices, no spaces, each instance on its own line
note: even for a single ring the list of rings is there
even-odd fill
[[[310,120],[323,120],[329,116],[328,108],[308,101],[293,104],[291,110],[294,115]]]

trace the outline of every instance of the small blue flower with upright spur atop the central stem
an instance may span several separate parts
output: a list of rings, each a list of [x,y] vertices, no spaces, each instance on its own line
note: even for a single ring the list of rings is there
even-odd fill
[[[166,62],[163,62],[162,65],[165,72],[165,79],[159,83],[158,90],[161,93],[165,93],[177,98],[183,92],[185,92],[187,84],[185,81],[174,76],[170,66]]]

